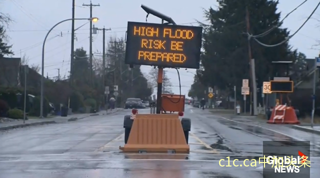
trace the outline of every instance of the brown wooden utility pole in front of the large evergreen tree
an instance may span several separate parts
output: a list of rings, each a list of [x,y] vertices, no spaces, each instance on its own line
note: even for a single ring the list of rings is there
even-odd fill
[[[246,7],[246,18],[245,18],[245,21],[246,21],[246,32],[247,34],[249,34],[250,32],[250,21],[249,21],[249,10],[248,8]],[[252,58],[252,52],[251,52],[251,43],[250,43],[250,37],[248,37],[248,56],[249,56],[249,64],[250,64],[250,68],[249,68],[249,74],[250,74],[250,90],[251,90],[251,93],[253,95],[253,97],[251,96],[250,97],[250,106],[251,106],[251,115],[254,115],[255,114],[255,110],[256,110],[256,85],[255,85],[255,72],[254,72],[254,60]],[[253,104],[252,104],[252,99],[253,99]]]

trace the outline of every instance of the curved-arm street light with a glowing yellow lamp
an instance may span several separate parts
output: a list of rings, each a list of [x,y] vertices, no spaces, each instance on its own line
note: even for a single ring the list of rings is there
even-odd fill
[[[64,21],[69,21],[69,20],[92,20],[93,22],[96,22],[98,20],[97,17],[91,17],[91,18],[68,18],[65,20],[62,20],[55,25],[53,25],[49,31],[46,33],[43,44],[42,44],[42,64],[41,64],[41,96],[40,96],[40,118],[43,118],[43,78],[44,78],[44,45],[45,45],[45,40],[48,37],[49,33],[52,31],[52,29],[57,26],[58,24],[64,22]]]

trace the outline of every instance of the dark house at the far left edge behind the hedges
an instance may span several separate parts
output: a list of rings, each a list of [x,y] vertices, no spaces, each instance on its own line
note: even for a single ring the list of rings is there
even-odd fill
[[[0,86],[20,86],[20,64],[21,58],[19,57],[0,58]]]

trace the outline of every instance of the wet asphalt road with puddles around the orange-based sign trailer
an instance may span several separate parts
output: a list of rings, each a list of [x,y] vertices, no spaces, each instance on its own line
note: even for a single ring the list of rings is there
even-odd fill
[[[139,113],[148,113],[140,109]],[[254,123],[243,117],[236,121],[186,106],[191,118],[189,154],[124,154],[122,110],[107,116],[17,128],[0,132],[0,178],[82,177],[262,177],[258,157],[264,140],[310,140],[311,177],[320,173],[320,136],[288,127]],[[248,125],[251,124],[251,125]],[[252,126],[258,124],[258,126]],[[292,137],[287,135],[293,135]],[[240,166],[227,165],[227,156]],[[255,166],[241,166],[244,159],[256,159]],[[250,161],[247,160],[246,164]]]

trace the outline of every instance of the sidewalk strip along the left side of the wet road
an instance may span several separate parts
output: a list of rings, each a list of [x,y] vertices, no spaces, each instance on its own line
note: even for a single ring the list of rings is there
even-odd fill
[[[23,119],[18,119],[18,120],[12,119],[14,121],[0,122],[0,130],[6,130],[6,129],[17,128],[17,127],[25,127],[25,126],[33,126],[33,125],[43,125],[43,124],[49,124],[49,123],[75,121],[78,119],[82,119],[82,118],[86,118],[94,115],[111,114],[119,110],[122,110],[122,108],[116,108],[112,111],[108,110],[107,113],[105,110],[101,110],[97,113],[76,113],[76,114],[68,115],[66,117],[55,116],[52,118],[29,118],[28,120],[25,120],[25,123],[23,123]]]

